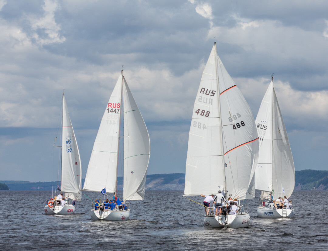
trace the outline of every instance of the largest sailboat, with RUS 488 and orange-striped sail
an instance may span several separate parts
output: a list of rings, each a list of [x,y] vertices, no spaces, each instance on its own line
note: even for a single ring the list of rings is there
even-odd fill
[[[205,215],[205,227],[249,225],[249,213],[240,200],[255,197],[258,151],[252,111],[223,66],[214,43],[195,100],[183,196],[211,195],[222,190],[225,198],[239,196],[239,206],[235,215]]]

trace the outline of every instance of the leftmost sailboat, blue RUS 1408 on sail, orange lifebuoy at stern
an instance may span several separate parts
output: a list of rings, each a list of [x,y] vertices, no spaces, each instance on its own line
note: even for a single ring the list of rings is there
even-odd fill
[[[61,187],[62,193],[67,200],[47,200],[44,206],[45,214],[73,214],[75,201],[81,201],[81,159],[77,146],[70,114],[68,112],[66,99],[63,92],[62,110],[62,144],[61,144]],[[57,191],[56,189],[56,191]]]

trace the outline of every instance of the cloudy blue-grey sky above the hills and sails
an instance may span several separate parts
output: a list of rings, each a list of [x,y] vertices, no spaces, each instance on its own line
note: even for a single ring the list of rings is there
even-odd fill
[[[295,170],[328,170],[326,1],[0,0],[0,180],[57,179],[63,89],[85,178],[122,65],[150,135],[147,173],[184,173],[215,41],[254,117],[274,73]]]

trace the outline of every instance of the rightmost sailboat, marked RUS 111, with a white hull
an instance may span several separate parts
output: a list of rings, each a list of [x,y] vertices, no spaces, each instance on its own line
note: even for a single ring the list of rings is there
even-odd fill
[[[294,209],[277,208],[274,201],[284,196],[289,198],[295,185],[295,168],[282,119],[275,89],[273,75],[256,116],[260,153],[255,172],[256,190],[261,191],[259,218],[294,217]]]

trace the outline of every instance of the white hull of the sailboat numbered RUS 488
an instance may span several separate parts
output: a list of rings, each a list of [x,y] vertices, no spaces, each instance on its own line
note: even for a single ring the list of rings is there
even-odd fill
[[[250,222],[249,213],[241,213],[238,215],[218,215],[218,216],[205,216],[204,226],[205,227],[229,227],[229,228],[240,228],[248,227]]]

